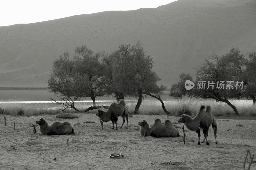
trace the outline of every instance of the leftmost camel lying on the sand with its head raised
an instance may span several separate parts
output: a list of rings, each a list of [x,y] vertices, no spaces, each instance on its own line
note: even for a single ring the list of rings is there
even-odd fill
[[[51,126],[41,118],[40,121],[36,121],[36,124],[40,126],[40,131],[43,135],[69,135],[74,133],[74,129],[69,122],[54,122]]]

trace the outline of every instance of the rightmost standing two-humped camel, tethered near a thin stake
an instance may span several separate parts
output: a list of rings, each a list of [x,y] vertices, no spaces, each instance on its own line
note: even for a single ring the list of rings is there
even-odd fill
[[[215,137],[215,144],[217,144],[217,123],[214,116],[212,115],[212,109],[210,106],[206,107],[206,111],[204,111],[204,109],[205,106],[202,105],[199,111],[197,112],[196,116],[193,118],[189,115],[181,115],[181,118],[178,120],[178,122],[184,123],[189,130],[196,131],[196,133],[198,134],[197,144],[200,144],[201,136],[199,127],[203,128],[204,140],[206,140],[206,145],[209,145],[207,141],[208,130],[209,127],[212,125]],[[204,140],[202,141],[202,143],[204,143]]]

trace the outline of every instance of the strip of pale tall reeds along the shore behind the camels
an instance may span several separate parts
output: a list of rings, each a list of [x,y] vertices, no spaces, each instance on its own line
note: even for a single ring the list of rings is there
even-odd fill
[[[239,114],[244,117],[256,116],[256,106],[252,104],[252,100],[230,100],[236,106]],[[109,106],[112,101],[97,102],[97,105]],[[126,101],[126,107],[129,113],[134,112],[137,100]],[[165,108],[174,116],[182,114],[196,115],[201,105],[209,105],[212,108],[212,114],[219,116],[234,116],[234,111],[226,103],[216,102],[215,100],[205,100],[196,96],[184,95],[181,99],[167,99],[164,101]],[[92,106],[92,102],[77,102],[75,107],[80,112]],[[76,113],[74,109],[66,109],[65,112],[59,110],[60,106],[56,103],[0,103],[0,114],[18,115],[19,116],[36,116],[36,115],[56,115],[61,113]],[[86,113],[96,113],[97,110],[91,110]],[[142,101],[139,109],[141,115],[167,115],[158,100],[146,98]]]

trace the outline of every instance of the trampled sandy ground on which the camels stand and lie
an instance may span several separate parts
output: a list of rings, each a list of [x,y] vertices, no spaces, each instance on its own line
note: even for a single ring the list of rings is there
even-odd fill
[[[77,113],[76,119],[57,119],[55,115],[7,117],[0,115],[0,169],[242,169],[246,149],[256,154],[256,121],[217,119],[215,144],[212,129],[210,145],[197,145],[196,132],[186,130],[188,143],[181,137],[141,137],[138,122],[143,119],[152,125],[156,118],[162,122],[177,117],[134,115],[129,117],[128,129],[113,130],[112,123],[101,129],[95,114]],[[39,126],[33,133],[35,121],[44,118],[48,124],[69,121],[74,135],[42,135]],[[118,126],[122,122],[120,117]],[[84,123],[93,121],[96,123]],[[13,129],[13,123],[16,129]],[[236,126],[237,124],[243,127]],[[177,124],[179,125],[179,124]],[[69,146],[67,146],[69,138]],[[201,140],[202,141],[202,140]],[[122,159],[109,159],[111,153],[121,153]],[[56,161],[53,160],[56,158]],[[256,158],[255,158],[256,159]],[[246,163],[248,167],[249,163]],[[256,169],[256,163],[251,166]]]

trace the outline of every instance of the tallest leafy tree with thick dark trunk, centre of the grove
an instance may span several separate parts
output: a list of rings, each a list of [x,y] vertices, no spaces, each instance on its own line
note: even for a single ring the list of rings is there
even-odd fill
[[[134,114],[139,114],[139,107],[144,95],[150,94],[152,97],[160,99],[162,91],[165,89],[163,85],[161,87],[156,85],[160,79],[152,71],[152,65],[151,56],[145,54],[139,41],[134,46],[119,46],[113,69],[113,80],[116,83],[117,91],[138,97]]]

